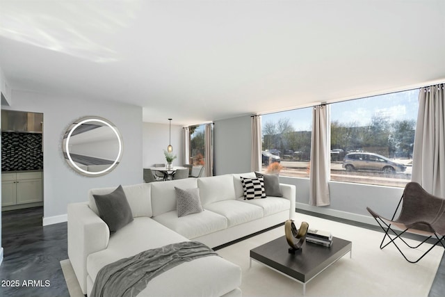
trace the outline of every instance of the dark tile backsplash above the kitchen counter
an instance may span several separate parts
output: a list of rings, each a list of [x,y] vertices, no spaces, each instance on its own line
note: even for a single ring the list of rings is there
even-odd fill
[[[42,134],[1,133],[1,171],[43,169]]]

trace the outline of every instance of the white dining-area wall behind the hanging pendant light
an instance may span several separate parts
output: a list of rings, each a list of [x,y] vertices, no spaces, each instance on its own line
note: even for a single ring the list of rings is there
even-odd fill
[[[164,150],[167,150],[168,134],[168,124],[143,123],[143,168],[154,166],[155,163],[167,163]],[[173,166],[182,166],[184,164],[182,126],[172,125],[171,141],[173,154],[177,155],[177,159],[173,161]]]

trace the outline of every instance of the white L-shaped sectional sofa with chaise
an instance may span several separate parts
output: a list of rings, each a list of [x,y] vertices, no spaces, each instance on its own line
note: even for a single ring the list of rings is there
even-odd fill
[[[115,187],[92,189],[88,202],[69,204],[68,256],[83,294],[90,294],[99,270],[118,259],[189,240],[214,248],[292,217],[295,186],[280,184],[282,197],[244,200],[241,177],[255,174],[123,186],[133,220],[112,234],[92,195],[111,193]],[[178,217],[175,187],[199,188],[204,211]],[[240,284],[241,268],[210,256],[165,271],[138,296],[241,296]]]

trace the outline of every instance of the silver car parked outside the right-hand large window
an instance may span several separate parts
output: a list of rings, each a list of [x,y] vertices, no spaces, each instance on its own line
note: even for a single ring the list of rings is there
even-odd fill
[[[343,168],[352,170],[381,170],[387,173],[404,172],[406,166],[373,152],[353,152],[343,159]]]

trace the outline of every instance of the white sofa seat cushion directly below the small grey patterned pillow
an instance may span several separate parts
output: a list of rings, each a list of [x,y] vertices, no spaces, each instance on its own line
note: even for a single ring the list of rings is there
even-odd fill
[[[227,218],[207,210],[198,214],[181,216],[181,218],[178,218],[177,211],[168,211],[153,218],[188,239],[227,228]]]

